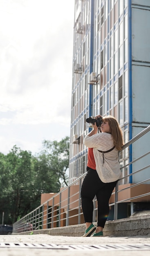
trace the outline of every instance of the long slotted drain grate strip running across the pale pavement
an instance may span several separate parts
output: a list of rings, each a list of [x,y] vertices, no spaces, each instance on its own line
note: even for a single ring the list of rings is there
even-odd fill
[[[37,243],[0,243],[0,248],[39,248],[65,250],[101,250],[101,251],[149,251],[150,245],[54,245]]]

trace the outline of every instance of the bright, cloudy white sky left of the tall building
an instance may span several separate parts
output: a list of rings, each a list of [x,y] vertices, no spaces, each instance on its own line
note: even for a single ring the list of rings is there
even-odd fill
[[[70,136],[74,0],[0,0],[0,152]]]

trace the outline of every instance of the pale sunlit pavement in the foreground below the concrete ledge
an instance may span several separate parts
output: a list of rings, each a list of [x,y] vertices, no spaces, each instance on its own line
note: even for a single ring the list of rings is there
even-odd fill
[[[0,256],[150,256],[150,235],[75,237],[0,235]]]

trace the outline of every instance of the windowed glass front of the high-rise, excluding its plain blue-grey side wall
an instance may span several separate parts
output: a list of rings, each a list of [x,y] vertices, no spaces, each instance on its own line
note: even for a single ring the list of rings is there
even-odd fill
[[[128,34],[127,0],[75,0],[70,183],[86,172],[86,118],[114,116],[128,141]]]

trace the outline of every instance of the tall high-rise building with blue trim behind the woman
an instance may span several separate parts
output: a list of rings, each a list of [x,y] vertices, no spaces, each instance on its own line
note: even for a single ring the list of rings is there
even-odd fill
[[[150,125],[149,97],[150,1],[75,0],[69,183],[86,172],[86,119],[116,117],[126,143]],[[139,157],[149,144],[146,137],[130,146],[120,164]],[[124,168],[122,176],[135,168]],[[143,175],[149,178],[147,170]],[[140,175],[123,182],[140,182]]]

